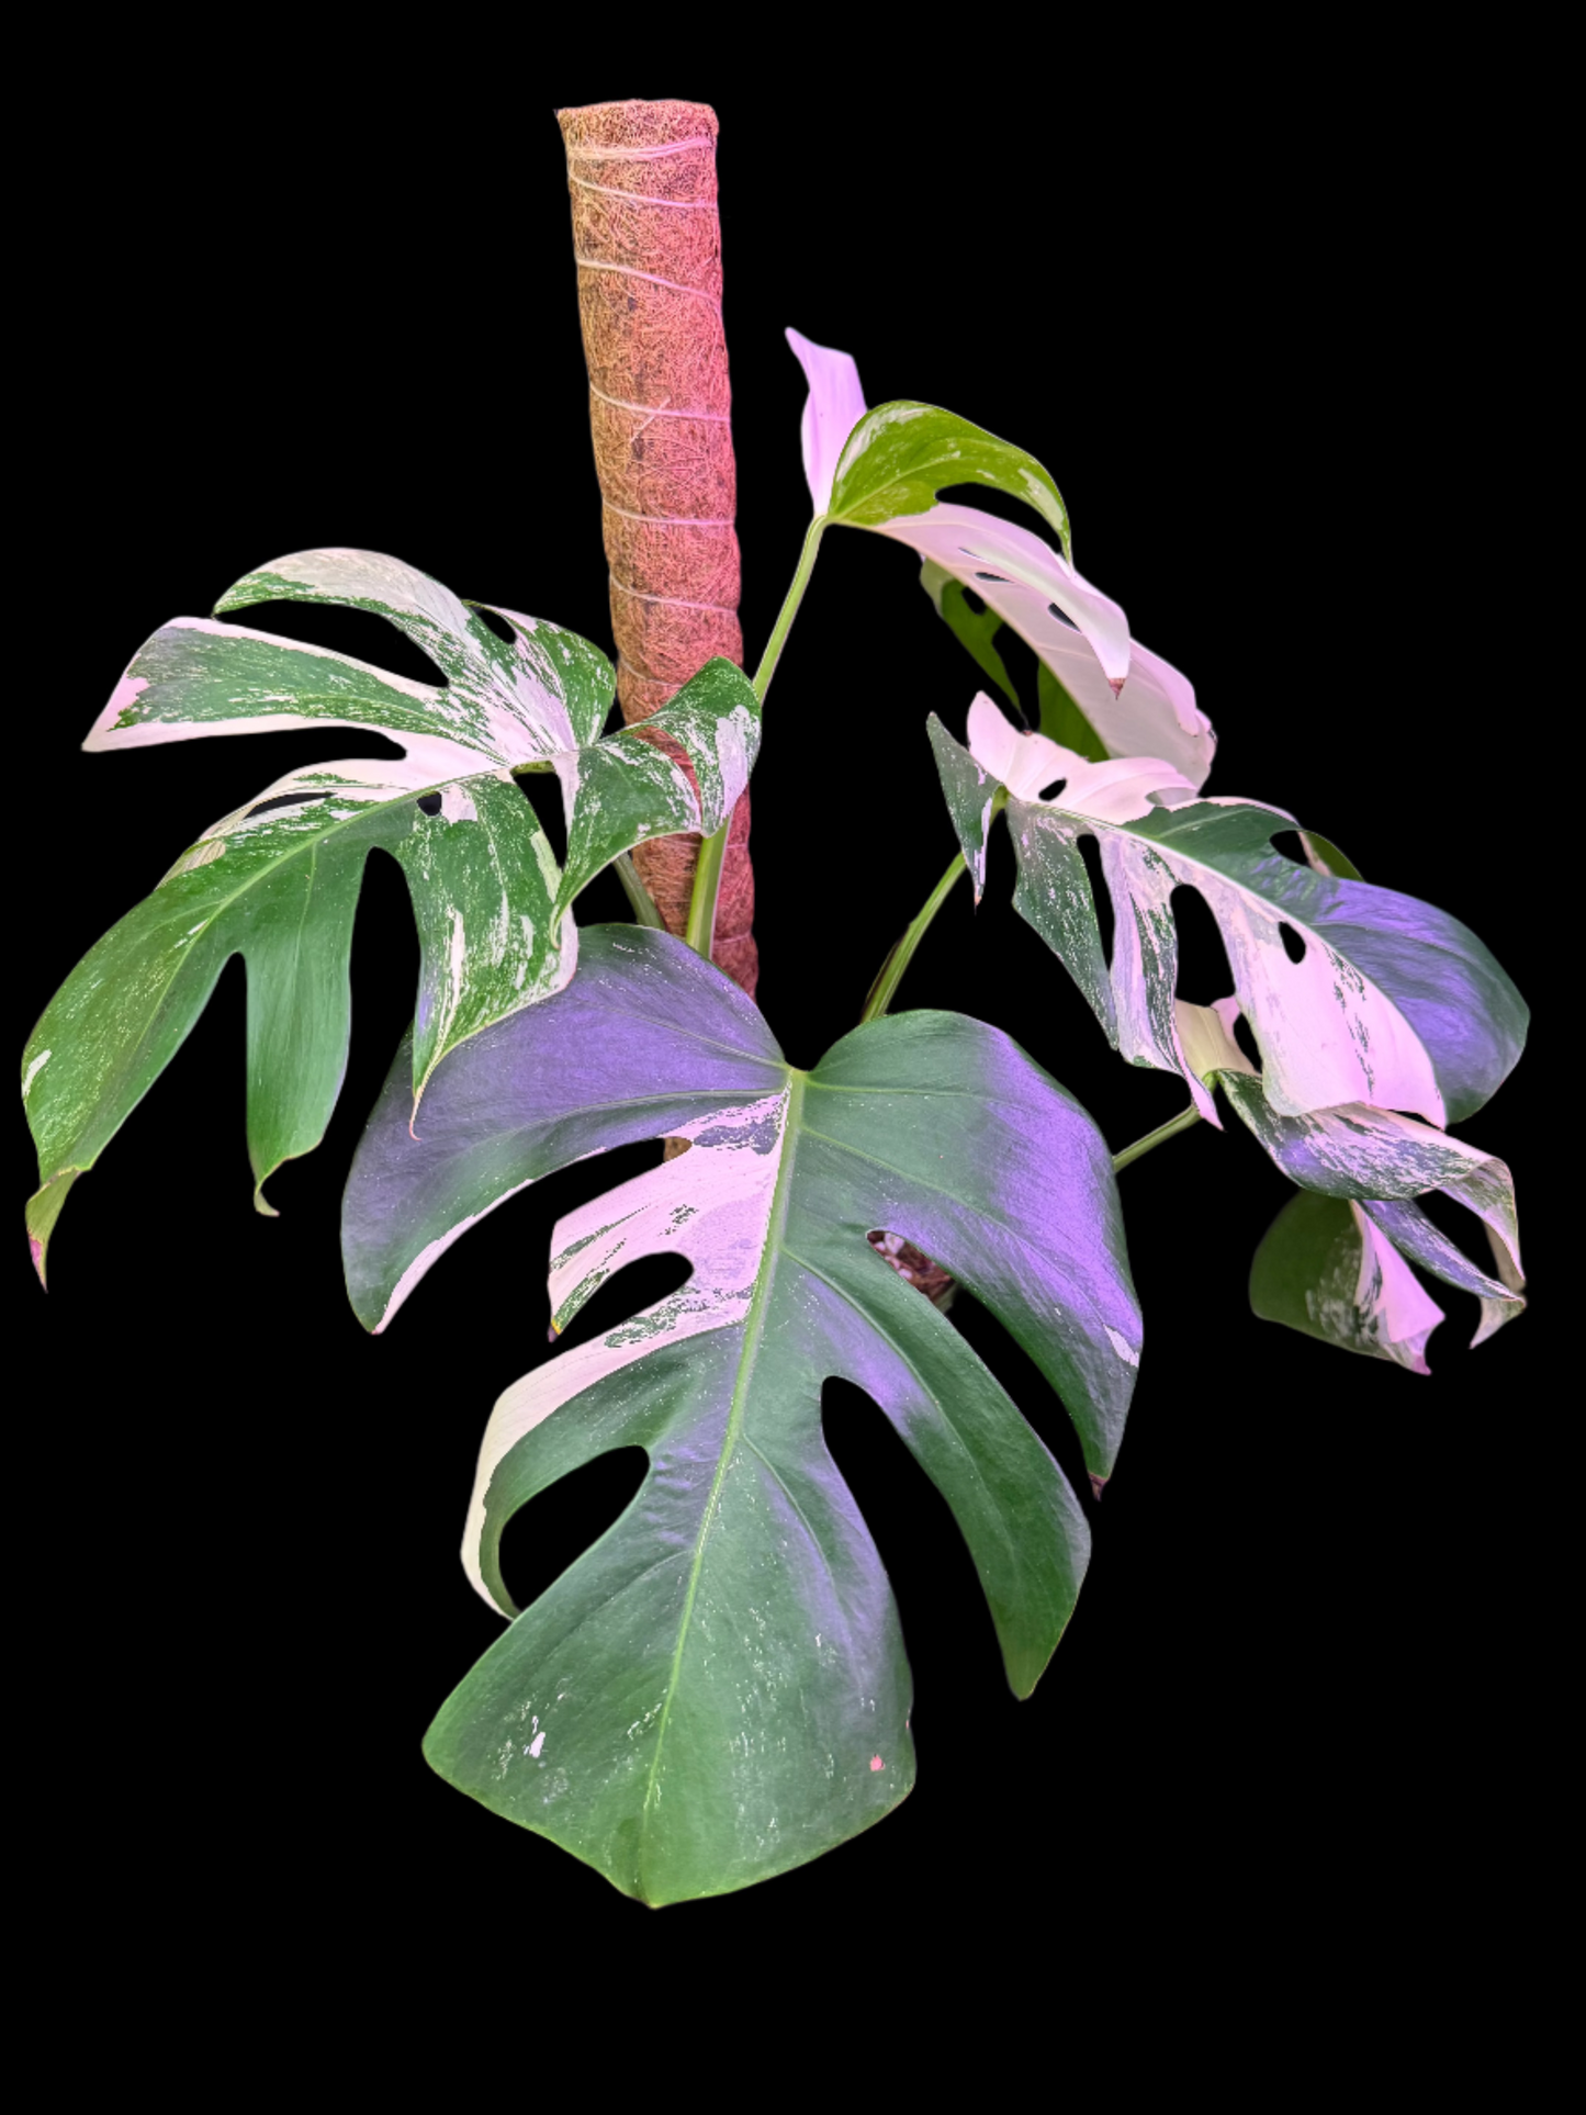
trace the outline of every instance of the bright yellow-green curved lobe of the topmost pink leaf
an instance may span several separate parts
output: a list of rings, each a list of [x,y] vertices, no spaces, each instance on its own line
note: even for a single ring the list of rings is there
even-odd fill
[[[947,484],[990,484],[1034,508],[1055,531],[1072,565],[1064,495],[1034,455],[998,440],[935,404],[878,404],[867,410],[837,459],[829,516],[875,529],[897,514],[924,514]]]

